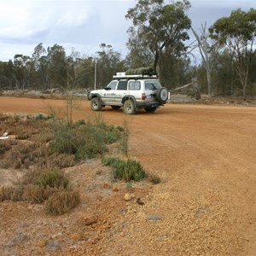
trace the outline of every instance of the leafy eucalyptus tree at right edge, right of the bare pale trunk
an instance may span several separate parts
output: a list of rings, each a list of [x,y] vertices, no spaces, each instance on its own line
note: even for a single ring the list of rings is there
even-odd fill
[[[230,17],[215,21],[209,31],[219,47],[228,49],[245,99],[250,64],[256,52],[256,9],[247,12],[236,9]]]

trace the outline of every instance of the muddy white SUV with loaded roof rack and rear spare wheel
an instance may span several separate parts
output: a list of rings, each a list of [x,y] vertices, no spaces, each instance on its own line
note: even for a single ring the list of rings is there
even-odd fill
[[[111,106],[113,109],[123,107],[127,114],[134,114],[141,108],[153,113],[166,103],[168,90],[161,87],[155,75],[116,73],[113,81],[102,90],[91,90],[88,98],[94,111]]]

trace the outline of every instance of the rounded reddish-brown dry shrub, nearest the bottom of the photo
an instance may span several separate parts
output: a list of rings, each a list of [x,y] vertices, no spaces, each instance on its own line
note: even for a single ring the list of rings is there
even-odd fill
[[[45,201],[44,207],[47,213],[60,215],[77,207],[79,202],[79,192],[60,190],[49,196],[49,199]]]

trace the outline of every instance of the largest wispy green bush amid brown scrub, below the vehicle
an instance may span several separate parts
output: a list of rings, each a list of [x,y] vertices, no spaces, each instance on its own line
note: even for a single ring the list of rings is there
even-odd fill
[[[77,159],[90,159],[108,151],[107,144],[115,143],[121,136],[121,129],[107,125],[101,118],[67,125],[55,125],[55,140],[50,147],[53,152],[74,154]]]

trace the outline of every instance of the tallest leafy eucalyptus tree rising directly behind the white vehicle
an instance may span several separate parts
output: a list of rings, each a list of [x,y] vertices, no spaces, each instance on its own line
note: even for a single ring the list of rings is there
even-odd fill
[[[186,15],[189,8],[187,0],[166,5],[164,0],[138,0],[125,15],[132,20],[137,38],[154,55],[155,71],[159,71],[160,57],[166,49],[172,55],[186,50],[183,42],[189,39],[191,20]]]

